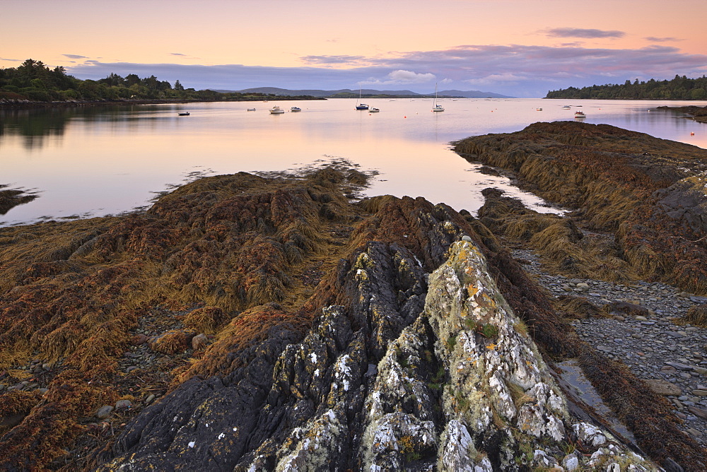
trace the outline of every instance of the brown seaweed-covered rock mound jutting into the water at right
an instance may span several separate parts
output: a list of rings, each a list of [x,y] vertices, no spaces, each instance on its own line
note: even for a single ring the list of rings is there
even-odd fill
[[[554,122],[466,138],[455,151],[512,170],[592,230],[613,232],[621,257],[604,270],[609,280],[618,280],[623,260],[642,278],[707,293],[704,149],[607,124]],[[573,269],[575,261],[566,261]]]

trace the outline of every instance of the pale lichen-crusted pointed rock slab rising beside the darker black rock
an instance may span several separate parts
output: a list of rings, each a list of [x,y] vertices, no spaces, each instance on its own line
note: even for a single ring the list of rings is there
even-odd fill
[[[520,320],[472,242],[452,244],[448,261],[431,274],[425,314],[450,374],[443,391],[447,425],[438,469],[483,470],[488,460],[503,470],[557,466],[564,445],[573,441],[572,428],[591,452],[609,442],[608,432],[573,424],[537,346],[514,329]],[[479,334],[479,324],[493,325],[496,336]],[[617,458],[628,454],[615,439],[611,444]]]

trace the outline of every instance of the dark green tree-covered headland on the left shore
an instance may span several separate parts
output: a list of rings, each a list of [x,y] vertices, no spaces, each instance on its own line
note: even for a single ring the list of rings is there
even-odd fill
[[[0,69],[0,103],[2,102],[68,102],[119,100],[270,100],[264,93],[218,93],[214,90],[185,88],[155,76],[140,78],[131,73],[121,77],[111,73],[98,81],[81,80],[66,74],[64,67],[50,69],[42,61],[25,60],[21,66]],[[278,97],[284,98],[284,97]],[[317,100],[307,95],[287,97],[289,100]]]

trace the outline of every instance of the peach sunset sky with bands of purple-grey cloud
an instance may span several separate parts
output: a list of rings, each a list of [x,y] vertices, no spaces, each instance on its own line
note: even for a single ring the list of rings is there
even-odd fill
[[[0,67],[186,88],[549,90],[707,74],[707,0],[0,0]]]

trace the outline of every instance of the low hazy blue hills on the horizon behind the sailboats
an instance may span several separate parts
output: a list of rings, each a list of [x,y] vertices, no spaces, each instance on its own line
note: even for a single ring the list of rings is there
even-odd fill
[[[288,90],[286,88],[277,87],[256,87],[245,88],[244,90],[216,90],[220,93],[269,93],[270,95],[311,95],[317,98],[349,98],[358,97],[358,90],[350,88],[342,88],[341,90]],[[373,90],[364,88],[361,90],[363,98],[379,97],[381,95],[397,98],[417,98],[417,97],[432,97],[432,93],[415,93],[411,90]],[[481,92],[480,90],[442,90],[437,93],[442,98],[515,98],[500,93]]]

